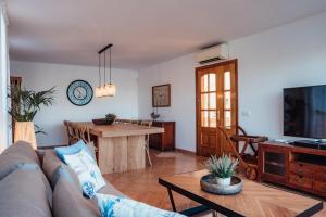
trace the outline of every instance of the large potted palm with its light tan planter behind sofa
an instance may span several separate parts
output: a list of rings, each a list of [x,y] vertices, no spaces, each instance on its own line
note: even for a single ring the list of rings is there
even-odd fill
[[[26,141],[37,149],[35,133],[43,131],[39,126],[34,125],[33,120],[41,106],[52,105],[54,92],[54,87],[38,92],[17,87],[10,89],[8,97],[11,99],[12,106],[8,112],[14,120],[14,142]]]

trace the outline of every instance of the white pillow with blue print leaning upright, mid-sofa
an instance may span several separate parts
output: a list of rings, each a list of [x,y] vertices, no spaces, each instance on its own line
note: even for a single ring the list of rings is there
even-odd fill
[[[86,196],[92,197],[105,186],[97,163],[84,149],[76,154],[63,155],[63,159],[77,174]]]

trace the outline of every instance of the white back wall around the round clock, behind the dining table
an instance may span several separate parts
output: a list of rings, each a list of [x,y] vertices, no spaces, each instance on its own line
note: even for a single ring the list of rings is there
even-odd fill
[[[38,145],[64,144],[67,142],[63,120],[90,122],[115,113],[123,118],[138,117],[138,72],[112,69],[116,85],[114,98],[96,98],[85,106],[73,105],[66,97],[66,88],[75,79],[88,81],[95,91],[98,87],[98,68],[76,65],[60,65],[30,62],[11,62],[11,74],[23,77],[23,87],[28,90],[45,90],[55,86],[55,103],[36,115],[35,123],[48,133],[37,136]]]

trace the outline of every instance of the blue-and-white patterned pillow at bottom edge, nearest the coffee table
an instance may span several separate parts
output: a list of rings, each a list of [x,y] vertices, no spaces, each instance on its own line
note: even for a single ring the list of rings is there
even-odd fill
[[[127,197],[96,194],[102,217],[185,217]]]

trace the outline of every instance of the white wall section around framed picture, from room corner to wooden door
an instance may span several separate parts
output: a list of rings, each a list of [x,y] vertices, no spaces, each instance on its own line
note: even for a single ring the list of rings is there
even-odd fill
[[[139,117],[152,112],[151,87],[171,84],[171,107],[160,107],[160,119],[176,122],[176,146],[195,151],[196,104],[193,54],[185,55],[139,72]]]

